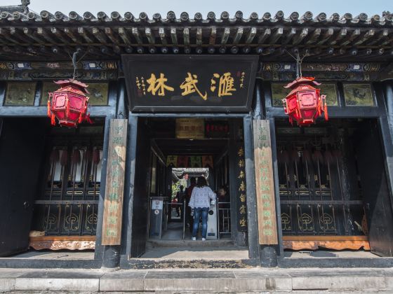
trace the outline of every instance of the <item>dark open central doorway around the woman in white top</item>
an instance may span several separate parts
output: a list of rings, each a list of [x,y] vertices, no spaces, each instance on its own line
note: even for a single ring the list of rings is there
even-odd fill
[[[175,251],[181,251],[180,246],[237,246],[239,183],[232,181],[237,176],[230,165],[237,165],[234,146],[244,144],[242,133],[242,119],[138,118],[133,196],[133,228],[138,230],[133,230],[131,257],[160,246]],[[220,195],[209,209],[204,244],[201,236],[191,240],[192,217],[187,205],[192,181],[199,176]],[[144,228],[140,220],[146,220]]]

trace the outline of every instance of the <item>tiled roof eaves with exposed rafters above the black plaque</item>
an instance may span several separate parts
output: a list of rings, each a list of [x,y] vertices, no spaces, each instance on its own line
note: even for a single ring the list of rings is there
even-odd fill
[[[172,11],[133,15],[116,11],[83,15],[44,10],[5,10],[0,6],[2,58],[69,59],[75,50],[86,58],[114,59],[121,54],[258,54],[265,60],[291,59],[300,52],[324,61],[389,61],[393,56],[393,15],[350,13],[329,16],[297,12],[284,15],[241,11],[194,16]]]

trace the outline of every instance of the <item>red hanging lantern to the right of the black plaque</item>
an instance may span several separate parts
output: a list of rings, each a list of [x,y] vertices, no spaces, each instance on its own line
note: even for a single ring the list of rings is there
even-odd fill
[[[300,77],[285,86],[292,89],[283,99],[284,111],[288,114],[291,124],[296,120],[299,126],[311,125],[322,112],[325,113],[325,120],[328,120],[326,95],[321,95],[320,90],[313,87],[314,85],[321,84],[314,78]]]

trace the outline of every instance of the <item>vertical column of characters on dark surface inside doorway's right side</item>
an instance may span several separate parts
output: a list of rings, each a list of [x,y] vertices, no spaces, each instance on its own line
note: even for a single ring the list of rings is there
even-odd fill
[[[237,143],[236,176],[237,176],[237,230],[247,231],[247,202],[246,202],[246,162],[244,160],[243,141]]]

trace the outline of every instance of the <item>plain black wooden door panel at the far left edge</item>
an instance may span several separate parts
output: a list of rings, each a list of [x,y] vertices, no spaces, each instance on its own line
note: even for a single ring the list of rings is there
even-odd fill
[[[0,133],[0,256],[25,251],[29,246],[47,130],[43,120],[3,119]]]

